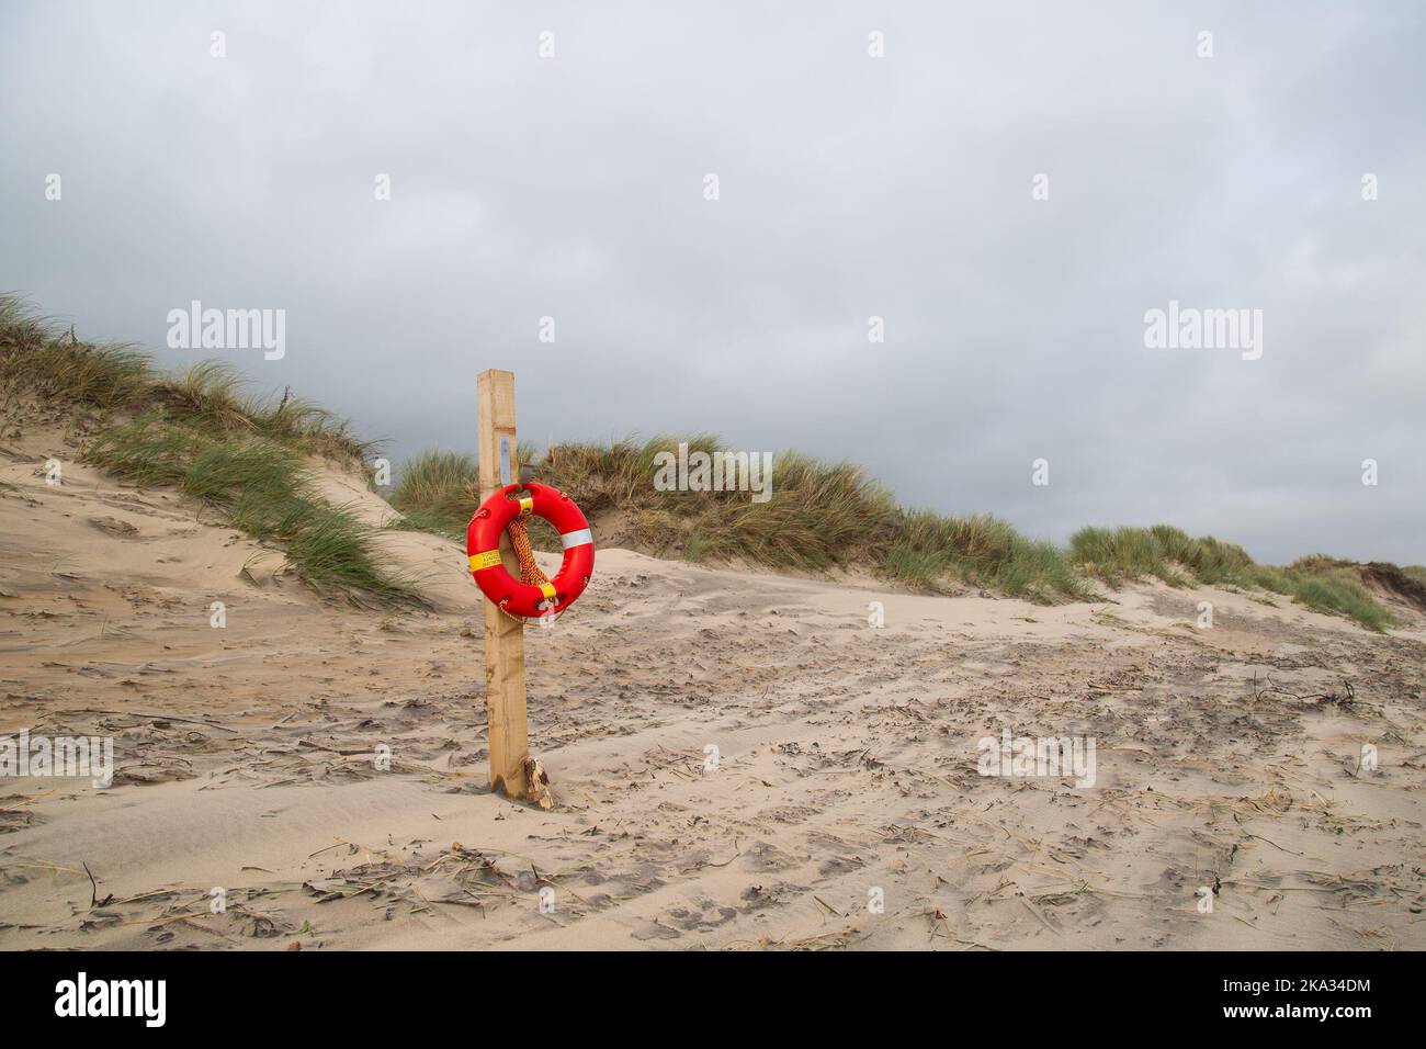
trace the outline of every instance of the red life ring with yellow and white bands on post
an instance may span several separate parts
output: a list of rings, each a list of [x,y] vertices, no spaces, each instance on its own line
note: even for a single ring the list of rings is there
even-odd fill
[[[522,491],[523,488],[523,491]],[[520,582],[501,564],[501,535],[518,517],[545,518],[565,545],[565,561],[548,584]],[[585,592],[595,572],[595,537],[575,501],[548,484],[508,484],[481,504],[465,529],[471,574],[491,601],[511,615],[538,619],[558,615]]]

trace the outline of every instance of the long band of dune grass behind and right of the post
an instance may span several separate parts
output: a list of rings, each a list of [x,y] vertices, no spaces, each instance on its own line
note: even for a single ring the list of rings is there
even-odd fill
[[[1154,578],[1172,587],[1268,589],[1378,631],[1393,622],[1350,562],[1315,557],[1285,568],[1261,565],[1238,544],[1162,524],[1082,528],[1060,548],[995,517],[898,507],[860,467],[796,452],[774,457],[767,502],[737,491],[659,491],[656,457],[676,451],[680,441],[690,452],[724,451],[702,434],[558,444],[543,455],[522,447],[520,460],[592,520],[612,515],[606,520],[617,522],[626,542],[656,557],[742,561],[774,571],[861,568],[921,591],[970,585],[1038,602],[1088,598],[1089,579],[1117,587]],[[401,468],[392,505],[408,525],[461,539],[478,491],[473,457],[422,452]],[[532,529],[532,539],[558,549],[552,532]]]

